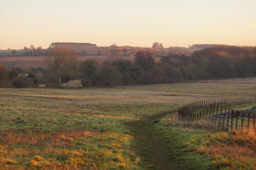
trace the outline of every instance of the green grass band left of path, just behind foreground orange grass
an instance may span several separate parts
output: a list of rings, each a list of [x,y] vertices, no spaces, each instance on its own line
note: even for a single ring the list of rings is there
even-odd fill
[[[96,132],[124,133],[126,131],[123,120],[120,119],[69,115],[35,109],[5,109],[0,111],[2,131],[43,133],[72,132],[84,129]]]

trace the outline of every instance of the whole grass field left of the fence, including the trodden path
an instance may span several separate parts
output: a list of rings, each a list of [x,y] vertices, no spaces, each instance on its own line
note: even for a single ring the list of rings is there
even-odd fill
[[[185,144],[207,131],[168,120],[191,102],[255,94],[255,81],[0,89],[0,169],[218,168]]]

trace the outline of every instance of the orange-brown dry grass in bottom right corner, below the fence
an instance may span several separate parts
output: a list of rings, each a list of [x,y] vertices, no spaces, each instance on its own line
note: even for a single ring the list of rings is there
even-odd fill
[[[196,146],[198,143],[202,144]],[[210,158],[218,168],[256,168],[256,134],[253,132],[207,133],[195,136],[187,146]]]

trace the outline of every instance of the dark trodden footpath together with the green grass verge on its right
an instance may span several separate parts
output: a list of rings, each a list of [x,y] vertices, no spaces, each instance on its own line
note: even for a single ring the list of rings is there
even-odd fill
[[[149,116],[146,122],[127,122],[134,136],[133,149],[142,157],[140,165],[154,169],[211,169],[208,158],[187,151],[185,143],[196,131],[170,128],[159,121],[175,112]]]

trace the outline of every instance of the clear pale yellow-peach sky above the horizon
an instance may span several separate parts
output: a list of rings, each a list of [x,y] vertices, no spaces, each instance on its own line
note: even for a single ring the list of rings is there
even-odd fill
[[[255,0],[0,0],[0,48],[256,46]]]

